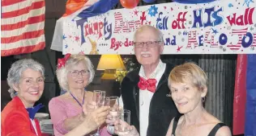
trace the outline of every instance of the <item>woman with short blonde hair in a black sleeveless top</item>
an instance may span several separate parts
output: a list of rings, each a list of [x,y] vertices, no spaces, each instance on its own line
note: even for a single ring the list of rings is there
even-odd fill
[[[169,75],[170,95],[181,117],[174,117],[166,136],[231,136],[224,123],[203,108],[207,75],[194,63],[176,66]]]

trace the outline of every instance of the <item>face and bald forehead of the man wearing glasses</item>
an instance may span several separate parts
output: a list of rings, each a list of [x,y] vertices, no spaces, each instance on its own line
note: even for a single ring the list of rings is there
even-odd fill
[[[134,42],[156,42],[160,41],[160,36],[156,31],[156,28],[153,27],[144,27],[139,30],[134,36]],[[143,47],[135,47],[134,52],[135,56],[142,65],[151,65],[158,64],[160,60],[160,54],[164,50],[164,43],[158,42],[154,47],[148,47],[146,43],[143,44]]]

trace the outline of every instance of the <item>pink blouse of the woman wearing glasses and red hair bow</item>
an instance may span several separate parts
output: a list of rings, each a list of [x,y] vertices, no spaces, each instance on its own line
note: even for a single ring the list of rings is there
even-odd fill
[[[63,127],[64,120],[82,113],[82,109],[74,106],[74,104],[69,101],[63,101],[59,97],[53,97],[53,99],[49,101],[49,113],[53,122],[54,135],[62,136],[68,132]],[[108,133],[106,126],[100,130],[100,135],[111,136],[111,134]]]

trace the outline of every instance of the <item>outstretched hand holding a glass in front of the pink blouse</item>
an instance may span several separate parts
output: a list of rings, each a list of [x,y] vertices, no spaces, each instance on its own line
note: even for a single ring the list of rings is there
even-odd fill
[[[92,112],[87,113],[82,124],[89,130],[96,130],[105,122],[108,114],[109,106],[102,106],[98,109],[94,109]]]

